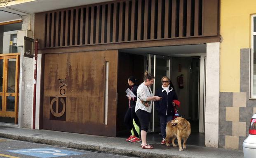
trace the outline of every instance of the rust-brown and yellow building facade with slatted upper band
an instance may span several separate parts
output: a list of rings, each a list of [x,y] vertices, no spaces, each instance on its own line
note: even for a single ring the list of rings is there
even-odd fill
[[[205,146],[242,149],[256,112],[252,4],[117,0],[23,16],[22,30],[39,40],[35,128],[122,135],[127,78],[142,82],[148,70],[153,92],[171,78],[180,114]],[[32,128],[33,60],[20,59],[19,126]],[[153,108],[150,131],[157,117]]]

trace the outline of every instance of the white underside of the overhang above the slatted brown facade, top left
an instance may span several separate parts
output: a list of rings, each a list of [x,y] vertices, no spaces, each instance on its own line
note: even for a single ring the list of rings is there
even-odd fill
[[[35,0],[17,5],[9,5],[8,7],[0,7],[0,10],[26,15],[108,1],[112,0]],[[0,23],[20,19],[19,15],[0,11]]]

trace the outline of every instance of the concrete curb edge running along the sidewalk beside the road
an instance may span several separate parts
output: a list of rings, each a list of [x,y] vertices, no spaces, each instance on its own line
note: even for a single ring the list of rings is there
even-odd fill
[[[12,134],[6,134],[6,133],[0,133],[0,137],[12,139],[12,140],[20,140],[25,142],[33,142],[33,143],[40,143],[40,144],[49,144],[59,147],[67,147],[67,148],[73,148],[73,149],[82,149],[87,151],[97,151],[101,153],[112,153],[112,154],[118,154],[123,156],[134,156],[134,157],[142,157],[142,158],[193,158],[193,157],[183,157],[178,155],[168,155],[168,154],[162,154],[162,153],[155,153],[151,150],[145,150],[140,151],[133,150],[133,149],[122,149],[122,148],[113,148],[109,146],[104,145],[96,145],[96,144],[82,144],[82,143],[74,143],[74,142],[64,142],[60,140],[50,140],[46,138],[40,138],[40,137],[29,137],[29,136],[23,136],[23,135],[12,135]]]

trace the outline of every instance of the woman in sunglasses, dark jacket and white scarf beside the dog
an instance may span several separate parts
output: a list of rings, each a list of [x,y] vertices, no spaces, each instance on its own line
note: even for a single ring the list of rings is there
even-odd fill
[[[170,79],[167,76],[164,76],[162,79],[162,87],[157,89],[156,96],[162,97],[160,101],[155,101],[155,108],[158,111],[160,119],[160,128],[162,134],[161,144],[165,144],[166,137],[166,124],[168,121],[171,121],[175,112],[173,100],[177,100],[177,94],[174,91],[174,87],[170,82]]]

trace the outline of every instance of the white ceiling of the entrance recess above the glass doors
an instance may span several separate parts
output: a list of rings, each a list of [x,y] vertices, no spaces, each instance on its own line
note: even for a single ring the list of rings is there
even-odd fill
[[[121,49],[120,52],[138,55],[150,53],[164,56],[200,56],[206,54],[206,44]]]

